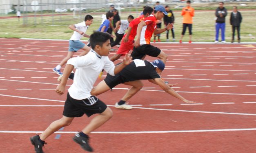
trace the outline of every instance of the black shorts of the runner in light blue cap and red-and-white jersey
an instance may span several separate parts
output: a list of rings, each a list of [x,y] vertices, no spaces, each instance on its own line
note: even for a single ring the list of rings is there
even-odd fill
[[[161,50],[155,46],[144,44],[138,46],[137,48],[134,47],[133,52],[131,53],[132,59],[142,59],[145,55],[149,55],[151,57],[158,57]]]

